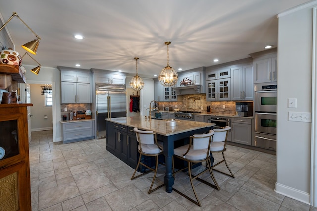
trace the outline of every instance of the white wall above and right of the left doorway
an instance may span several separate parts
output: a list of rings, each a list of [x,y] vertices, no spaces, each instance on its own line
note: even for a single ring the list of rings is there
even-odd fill
[[[52,84],[52,95],[53,95],[53,104],[55,107],[52,107],[53,114],[53,142],[61,141],[61,111],[60,111],[60,71],[57,68],[43,67],[39,75],[35,75],[30,70],[35,66],[23,65],[26,69],[26,82],[28,84]]]

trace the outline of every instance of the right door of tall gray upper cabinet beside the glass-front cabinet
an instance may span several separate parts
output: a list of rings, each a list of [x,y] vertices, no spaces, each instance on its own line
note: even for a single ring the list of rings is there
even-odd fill
[[[254,99],[253,65],[243,66],[242,71],[243,71],[243,73],[242,73],[243,100],[253,100]],[[231,82],[232,82],[232,80],[231,80]],[[232,95],[231,95],[231,99],[232,99]],[[232,99],[232,100],[234,100],[234,99]]]

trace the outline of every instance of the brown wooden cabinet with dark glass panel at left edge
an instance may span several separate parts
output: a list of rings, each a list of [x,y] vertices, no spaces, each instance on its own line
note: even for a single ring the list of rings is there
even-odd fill
[[[0,104],[0,210],[31,210],[27,106]]]

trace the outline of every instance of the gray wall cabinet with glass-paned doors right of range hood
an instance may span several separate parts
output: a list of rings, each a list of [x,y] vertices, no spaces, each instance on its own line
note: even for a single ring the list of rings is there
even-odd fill
[[[230,78],[206,81],[206,101],[231,100]]]

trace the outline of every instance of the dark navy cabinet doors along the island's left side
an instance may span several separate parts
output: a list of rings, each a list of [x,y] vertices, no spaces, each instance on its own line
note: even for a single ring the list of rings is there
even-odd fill
[[[133,127],[106,121],[107,150],[135,168],[138,162],[137,138]]]

